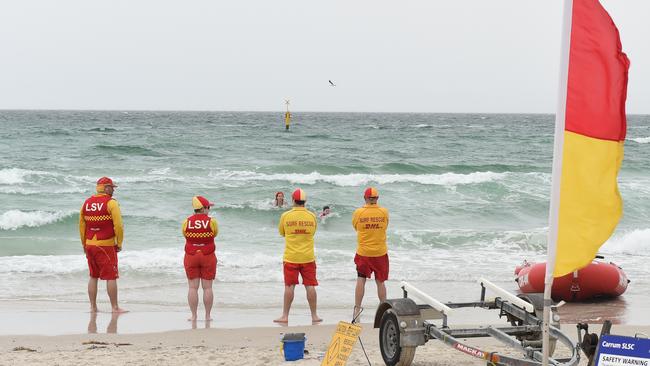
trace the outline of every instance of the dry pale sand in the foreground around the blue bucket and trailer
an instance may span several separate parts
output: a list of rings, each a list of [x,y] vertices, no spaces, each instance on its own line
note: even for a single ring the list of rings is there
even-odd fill
[[[305,358],[295,365],[320,365],[334,333],[334,325],[286,328],[196,329],[147,334],[83,334],[64,336],[2,336],[2,365],[281,365],[291,364],[280,354],[283,333],[304,332],[307,336]],[[573,335],[574,325],[563,329]],[[598,327],[591,330],[599,331]],[[650,333],[650,327],[614,326],[613,333],[633,335]],[[575,337],[575,335],[573,335]],[[363,324],[361,339],[372,365],[383,365],[378,346],[378,330]],[[485,350],[507,353],[491,340],[472,340]],[[559,347],[558,353],[568,351]],[[357,343],[348,365],[367,361]],[[414,365],[483,365],[484,362],[430,341],[419,347]],[[585,365],[582,360],[581,365]]]

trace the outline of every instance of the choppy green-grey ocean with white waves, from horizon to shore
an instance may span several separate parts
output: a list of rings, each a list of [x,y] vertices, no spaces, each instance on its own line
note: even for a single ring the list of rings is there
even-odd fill
[[[332,209],[315,238],[322,309],[351,313],[351,215],[370,185],[391,215],[389,295],[406,280],[440,300],[475,300],[478,277],[515,291],[514,267],[546,254],[553,123],[540,114],[295,112],[287,132],[282,112],[0,111],[0,302],[86,306],[79,209],[101,176],[119,185],[127,308],[185,311],[180,227],[202,195],[220,229],[215,314],[279,315],[283,210],[272,202],[298,187],[312,211]],[[650,293],[648,152],[650,116],[629,116],[624,217],[601,250],[632,280],[628,313]],[[294,311],[304,312],[298,293]]]

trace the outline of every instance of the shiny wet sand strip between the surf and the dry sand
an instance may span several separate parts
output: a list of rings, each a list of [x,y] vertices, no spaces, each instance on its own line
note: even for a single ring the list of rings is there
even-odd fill
[[[395,294],[393,294],[395,295]],[[443,294],[444,295],[444,294]],[[443,298],[438,297],[438,298]],[[465,297],[466,300],[478,300]],[[417,301],[417,300],[416,300]],[[455,300],[458,301],[458,300]],[[100,302],[100,309],[108,310]],[[91,314],[86,303],[47,301],[2,301],[0,302],[0,336],[2,335],[65,335],[84,333],[151,333],[173,330],[205,328],[199,307],[199,322],[188,322],[189,312],[185,307],[151,304],[125,304],[130,312],[115,316],[109,312]],[[369,301],[361,320],[372,322],[376,304]],[[614,324],[650,326],[650,302],[645,297],[625,295],[618,299],[569,303],[559,309],[563,324],[586,322],[601,324],[610,320]],[[212,328],[271,327],[279,316],[279,307],[215,307],[209,326]],[[322,307],[319,309],[323,324],[349,321],[352,309]],[[456,309],[449,319],[450,324],[499,324],[498,313],[484,309]],[[289,319],[290,326],[311,325],[307,305],[296,301]]]

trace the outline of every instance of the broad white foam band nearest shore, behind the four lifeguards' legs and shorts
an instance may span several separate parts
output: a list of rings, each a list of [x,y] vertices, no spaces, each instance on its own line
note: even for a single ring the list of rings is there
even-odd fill
[[[520,242],[539,241],[543,236],[543,228],[533,229],[530,232],[512,231],[494,235],[496,232],[475,232],[472,230],[442,230],[439,234],[460,235],[474,237],[475,244],[471,248],[472,255],[467,255],[467,246],[456,248],[452,246],[425,245],[423,237],[414,236],[417,245],[417,254],[413,255],[413,246],[390,246],[391,273],[394,279],[409,279],[429,281],[474,279],[476,273],[488,273],[495,278],[509,278],[512,269],[523,259],[543,260],[544,252],[537,245],[517,245]],[[435,232],[431,232],[435,234]],[[426,234],[418,232],[415,234]],[[650,229],[637,230],[624,235],[619,240],[609,243],[609,252],[619,251],[639,254],[648,251]],[[434,239],[434,240],[440,240]],[[612,244],[615,244],[612,246]],[[252,249],[252,248],[251,248]],[[494,255],[501,253],[501,255]],[[318,277],[323,283],[332,280],[347,280],[353,278],[354,247],[327,247],[317,245]],[[645,255],[645,254],[642,254]],[[160,275],[171,276],[182,281],[183,273],[183,247],[152,248],[147,250],[125,250],[120,253],[120,271],[124,278],[135,274],[144,275],[155,279]],[[219,280],[230,283],[281,283],[282,281],[282,249],[281,248],[256,248],[254,250],[228,247],[225,243],[217,246],[219,259]],[[615,260],[629,268],[636,268],[636,262],[622,258],[619,255]],[[466,271],[461,277],[448,275],[448,271],[431,269],[431,258],[435,258],[436,268],[455,268],[458,265],[472,265],[472,270]],[[624,260],[625,259],[625,260]],[[84,256],[49,255],[49,256],[5,256],[0,257],[0,276],[18,276],[21,279],[34,279],[52,275],[82,276],[87,272]],[[143,278],[143,277],[139,277]],[[63,279],[62,279],[63,280]],[[156,280],[153,280],[154,282]],[[0,293],[2,292],[0,286]],[[155,300],[154,300],[155,301]]]

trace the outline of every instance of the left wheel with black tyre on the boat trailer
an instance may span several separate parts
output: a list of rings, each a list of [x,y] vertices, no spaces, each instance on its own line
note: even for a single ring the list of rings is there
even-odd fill
[[[397,315],[388,309],[379,325],[379,348],[381,357],[388,366],[409,366],[415,357],[415,347],[400,346],[400,331]]]

